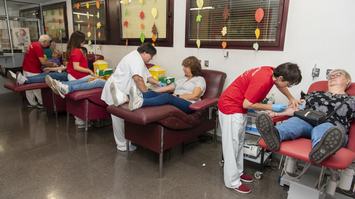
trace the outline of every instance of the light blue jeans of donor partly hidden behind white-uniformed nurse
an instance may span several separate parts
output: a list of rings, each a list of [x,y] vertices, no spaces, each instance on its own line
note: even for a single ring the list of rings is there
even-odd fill
[[[93,81],[89,81],[89,78],[93,78],[93,77],[85,76],[77,80],[62,81],[62,83],[69,86],[68,92],[89,90],[94,88],[103,88],[106,83],[106,80],[104,79],[95,79]]]

